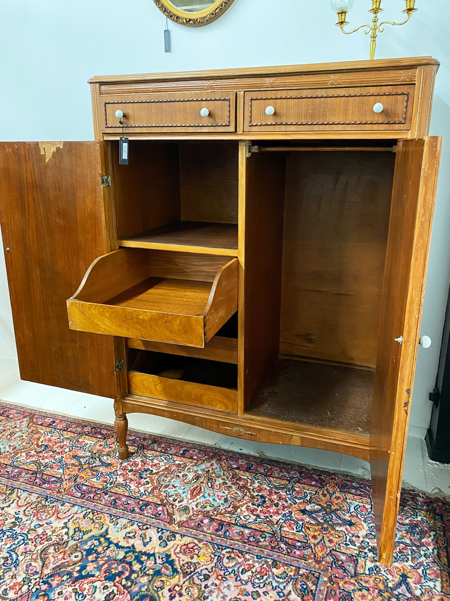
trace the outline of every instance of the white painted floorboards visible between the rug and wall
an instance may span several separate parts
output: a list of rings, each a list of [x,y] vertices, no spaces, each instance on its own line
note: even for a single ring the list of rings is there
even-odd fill
[[[0,364],[0,400],[101,423],[112,424],[114,421],[113,401],[110,398],[24,382],[20,379],[19,368],[14,365]],[[130,429],[159,436],[179,438],[270,459],[355,474],[365,478],[370,475],[370,466],[365,461],[332,451],[245,441],[209,432],[173,419],[142,413],[130,413],[128,424]],[[425,441],[409,436],[403,484],[406,487],[413,487],[436,496],[450,497],[450,465],[430,461]]]

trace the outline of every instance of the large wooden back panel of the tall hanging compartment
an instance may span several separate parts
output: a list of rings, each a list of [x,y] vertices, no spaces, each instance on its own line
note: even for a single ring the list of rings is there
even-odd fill
[[[374,366],[395,155],[287,157],[280,352]]]

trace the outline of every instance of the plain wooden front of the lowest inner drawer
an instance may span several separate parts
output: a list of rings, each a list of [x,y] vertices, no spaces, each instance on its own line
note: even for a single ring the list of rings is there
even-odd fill
[[[173,403],[208,407],[217,411],[236,413],[238,392],[184,380],[152,376],[140,371],[128,371],[128,391],[141,397],[157,398]]]

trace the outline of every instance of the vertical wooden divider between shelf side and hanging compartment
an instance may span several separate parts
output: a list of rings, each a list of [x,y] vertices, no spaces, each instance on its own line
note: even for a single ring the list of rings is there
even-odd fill
[[[239,413],[278,356],[286,159],[239,148]]]

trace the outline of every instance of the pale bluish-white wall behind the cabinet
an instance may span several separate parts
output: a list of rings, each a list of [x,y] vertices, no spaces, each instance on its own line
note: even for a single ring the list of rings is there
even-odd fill
[[[367,22],[370,0],[355,4],[350,24]],[[403,17],[402,0],[382,5],[386,19]],[[407,25],[386,26],[376,57],[432,55],[442,63],[431,133],[444,135],[445,142],[422,321],[422,333],[433,345],[419,348],[411,414],[413,431],[424,433],[450,281],[450,4],[417,0],[416,7]],[[169,22],[170,54],[163,47],[166,19],[152,0],[2,0],[1,16],[0,140],[92,139],[86,80],[93,75],[368,58],[368,36],[341,34],[329,0],[235,0],[223,17],[203,28]],[[17,356],[3,256],[1,356]]]

